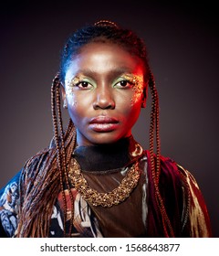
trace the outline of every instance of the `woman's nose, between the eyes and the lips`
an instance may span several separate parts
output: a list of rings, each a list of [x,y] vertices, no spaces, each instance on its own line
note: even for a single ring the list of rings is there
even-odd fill
[[[98,109],[114,109],[115,101],[113,99],[112,91],[110,88],[99,88],[95,95],[95,101],[93,102],[93,108]]]

